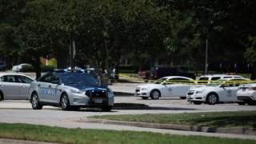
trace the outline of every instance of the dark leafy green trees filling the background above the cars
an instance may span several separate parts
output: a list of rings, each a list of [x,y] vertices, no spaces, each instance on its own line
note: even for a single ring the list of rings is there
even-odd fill
[[[249,63],[254,75],[255,7],[250,0],[0,0],[0,54],[11,65],[26,58],[39,78],[39,58],[65,68],[74,41],[76,62],[109,78],[127,57],[139,68],[161,62],[203,70],[207,39],[209,64],[228,71]]]

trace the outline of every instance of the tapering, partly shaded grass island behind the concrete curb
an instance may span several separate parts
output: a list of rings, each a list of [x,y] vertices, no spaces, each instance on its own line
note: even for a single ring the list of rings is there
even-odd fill
[[[256,110],[214,113],[102,115],[89,118],[178,125],[256,128]]]

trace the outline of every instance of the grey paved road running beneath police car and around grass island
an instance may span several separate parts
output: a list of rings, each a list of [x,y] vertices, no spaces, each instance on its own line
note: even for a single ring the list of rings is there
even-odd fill
[[[195,106],[187,103],[186,100],[178,98],[163,98],[162,100],[141,100],[136,97],[116,97],[115,102],[138,102],[148,103],[155,106],[154,110],[112,110],[111,112],[102,112],[101,110],[82,109],[80,111],[62,111],[58,107],[44,106],[42,110],[32,110],[27,101],[3,101],[0,102],[0,122],[8,123],[29,123],[46,126],[61,126],[66,128],[84,128],[98,130],[134,130],[151,131],[162,134],[184,134],[184,135],[204,135],[225,138],[249,138],[256,140],[255,136],[241,134],[212,134],[201,132],[190,132],[181,130],[161,130],[152,128],[142,128],[135,126],[118,126],[102,123],[74,122],[74,118],[86,118],[90,115],[102,114],[159,114],[159,113],[183,113],[198,111],[222,111],[225,110],[254,110],[254,106],[238,106],[237,104],[223,105],[201,105]],[[163,104],[161,104],[163,102]],[[169,102],[169,103],[168,103]]]

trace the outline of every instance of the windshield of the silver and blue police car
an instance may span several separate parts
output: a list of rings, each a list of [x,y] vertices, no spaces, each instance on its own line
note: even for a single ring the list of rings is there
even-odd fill
[[[86,74],[65,74],[62,75],[62,82],[64,84],[82,84],[89,86],[97,86],[98,82],[95,78]]]

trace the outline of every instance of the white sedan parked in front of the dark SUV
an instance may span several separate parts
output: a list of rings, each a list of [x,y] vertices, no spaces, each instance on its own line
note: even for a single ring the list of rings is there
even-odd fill
[[[135,96],[142,99],[158,99],[159,97],[180,97],[185,99],[187,91],[194,87],[196,87],[196,83],[192,78],[169,76],[160,78],[151,84],[137,86]]]

